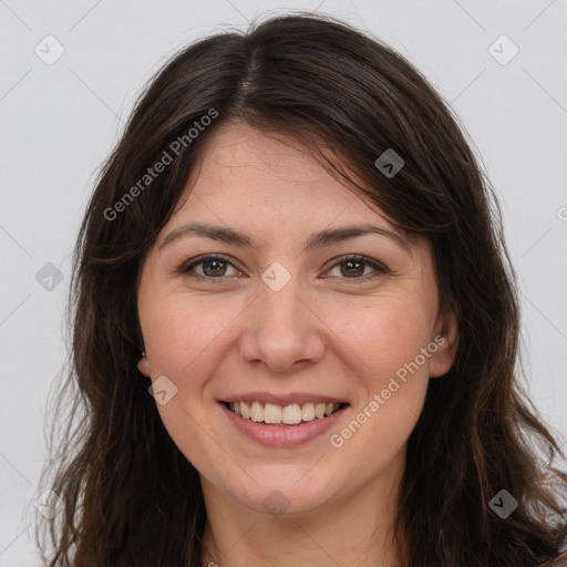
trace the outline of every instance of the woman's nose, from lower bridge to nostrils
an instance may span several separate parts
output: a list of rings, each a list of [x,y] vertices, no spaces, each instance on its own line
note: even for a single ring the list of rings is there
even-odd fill
[[[293,277],[275,291],[264,282],[258,298],[247,310],[240,355],[249,363],[271,371],[298,371],[316,363],[324,352],[324,324],[313,300],[302,292]]]

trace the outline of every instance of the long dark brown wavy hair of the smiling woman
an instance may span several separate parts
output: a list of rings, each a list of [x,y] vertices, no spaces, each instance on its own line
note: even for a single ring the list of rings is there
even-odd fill
[[[52,546],[44,560],[200,567],[199,476],[136,368],[136,284],[199,147],[237,120],[296,140],[394,226],[433,245],[442,308],[457,313],[460,344],[450,372],[431,381],[409,439],[396,516],[402,565],[559,565],[567,475],[542,453],[564,455],[522,389],[518,290],[494,189],[419,71],[380,40],[302,12],[176,53],[100,173],[75,248],[72,351],[42,475],[63,503],[41,524]],[[375,165],[386,150],[404,159],[390,178]],[[164,171],[145,177],[159,161]],[[506,519],[488,505],[501,489],[519,503]]]

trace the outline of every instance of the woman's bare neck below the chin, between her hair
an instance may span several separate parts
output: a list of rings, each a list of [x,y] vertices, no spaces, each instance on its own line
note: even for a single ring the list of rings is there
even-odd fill
[[[394,463],[391,463],[394,465]],[[301,514],[250,511],[202,478],[203,567],[398,567],[395,504],[404,458],[377,478]]]

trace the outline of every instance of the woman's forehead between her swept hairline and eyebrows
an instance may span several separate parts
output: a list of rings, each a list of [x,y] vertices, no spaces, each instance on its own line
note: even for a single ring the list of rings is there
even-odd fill
[[[250,218],[295,215],[311,225],[337,218],[390,226],[375,204],[338,181],[291,137],[245,123],[224,124],[205,141],[176,210],[197,214],[206,205]]]

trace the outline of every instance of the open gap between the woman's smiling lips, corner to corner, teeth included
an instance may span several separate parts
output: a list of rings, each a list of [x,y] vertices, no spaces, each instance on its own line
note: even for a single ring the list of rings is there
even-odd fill
[[[286,405],[260,401],[225,401],[221,403],[228,411],[244,420],[275,427],[297,427],[309,422],[327,420],[349,405],[347,402],[323,401],[288,403]]]

